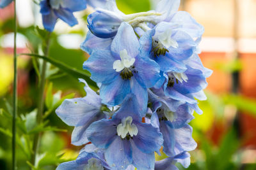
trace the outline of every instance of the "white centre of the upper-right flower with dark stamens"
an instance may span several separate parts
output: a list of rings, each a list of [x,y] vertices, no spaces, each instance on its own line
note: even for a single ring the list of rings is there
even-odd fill
[[[172,38],[172,29],[167,29],[166,31],[160,33],[158,39],[166,48],[169,48],[170,46],[173,48],[179,47],[177,41]]]

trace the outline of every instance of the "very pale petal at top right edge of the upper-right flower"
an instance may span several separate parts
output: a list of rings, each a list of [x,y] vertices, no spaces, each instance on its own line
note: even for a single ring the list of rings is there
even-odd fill
[[[178,24],[178,30],[186,32],[192,38],[200,38],[204,33],[204,27],[186,11],[177,11],[170,22]]]

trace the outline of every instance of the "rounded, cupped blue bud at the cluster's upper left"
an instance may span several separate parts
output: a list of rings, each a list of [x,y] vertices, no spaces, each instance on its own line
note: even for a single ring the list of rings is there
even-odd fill
[[[123,22],[122,17],[113,11],[97,10],[87,17],[88,29],[99,38],[111,38],[116,35]]]

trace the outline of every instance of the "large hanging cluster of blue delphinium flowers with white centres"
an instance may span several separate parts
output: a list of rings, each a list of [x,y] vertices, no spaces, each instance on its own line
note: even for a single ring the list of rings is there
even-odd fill
[[[47,1],[47,10],[63,19],[67,1],[61,2]],[[83,67],[99,94],[80,80],[86,96],[66,99],[56,110],[75,127],[72,144],[86,144],[77,160],[58,169],[162,170],[177,169],[176,162],[188,167],[188,152],[196,148],[188,123],[194,111],[202,113],[196,99],[206,99],[205,79],[212,73],[198,57],[204,27],[178,11],[179,0],[161,0],[155,10],[131,15],[118,10],[115,0],[99,4],[81,44],[90,54]],[[168,158],[156,161],[161,148]]]

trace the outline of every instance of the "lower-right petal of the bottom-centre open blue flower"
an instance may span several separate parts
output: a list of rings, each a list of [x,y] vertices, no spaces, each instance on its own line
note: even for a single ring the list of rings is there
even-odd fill
[[[133,166],[140,170],[154,170],[155,154],[141,152],[136,143],[131,141]]]

